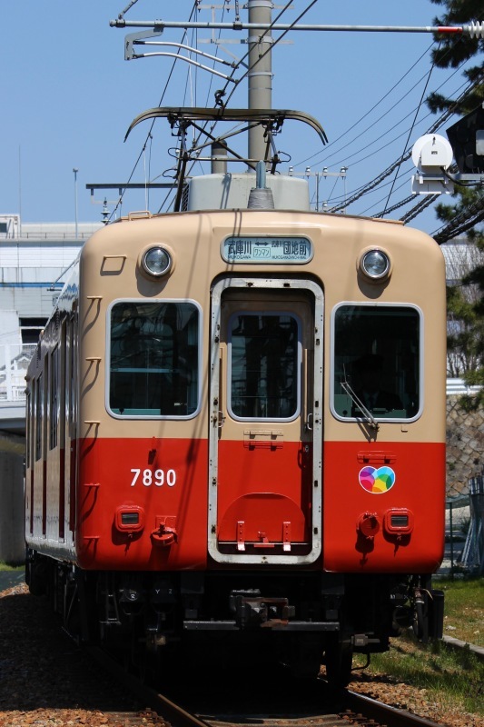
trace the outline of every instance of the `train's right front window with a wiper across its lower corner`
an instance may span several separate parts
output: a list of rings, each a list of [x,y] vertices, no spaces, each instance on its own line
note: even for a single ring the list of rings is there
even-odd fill
[[[332,320],[332,407],[342,419],[412,419],[420,412],[420,312],[343,304]]]

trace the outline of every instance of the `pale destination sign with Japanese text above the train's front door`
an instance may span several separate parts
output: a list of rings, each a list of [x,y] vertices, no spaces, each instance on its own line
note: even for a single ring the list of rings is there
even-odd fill
[[[303,264],[312,258],[312,243],[302,236],[232,236],[222,242],[222,258],[226,263]]]

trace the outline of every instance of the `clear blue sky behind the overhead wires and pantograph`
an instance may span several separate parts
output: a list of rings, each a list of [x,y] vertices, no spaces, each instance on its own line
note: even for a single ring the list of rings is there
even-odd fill
[[[144,182],[173,165],[166,149],[175,139],[163,120],[154,125],[153,140],[136,167],[149,123],[140,124],[123,143],[133,118],[160,103],[172,68],[168,58],[124,61],[124,36],[131,31],[111,28],[109,21],[127,5],[128,0],[2,3],[0,214],[21,212],[24,222],[74,221],[73,169],[77,168],[78,221],[96,221],[101,218],[104,193],[92,198],[86,183],[119,183],[132,173],[132,181]],[[185,0],[138,0],[125,17],[186,20],[192,5]],[[291,22],[310,3],[294,0],[292,5],[282,22]],[[301,22],[432,25],[440,9],[430,0],[320,0]],[[274,15],[278,12],[274,10]],[[228,19],[233,17],[232,10]],[[210,15],[201,11],[199,19],[208,21]],[[182,35],[181,30],[166,30],[163,40],[181,41]],[[244,35],[224,33],[222,37]],[[209,37],[209,32],[199,32],[202,37]],[[277,45],[272,56],[272,105],[316,116],[331,144],[323,148],[309,127],[292,122],[277,137],[277,146],[291,154],[290,164],[299,172],[307,166],[312,173],[323,166],[331,172],[348,167],[346,187],[338,177],[321,180],[320,202],[329,200],[330,206],[345,191],[350,195],[398,159],[412,124],[410,144],[427,132],[435,118],[425,105],[417,114],[426,84],[427,92],[440,88],[445,95],[459,95],[463,88],[460,71],[434,70],[429,80],[431,35],[300,32],[285,39],[291,43]],[[193,35],[188,42],[194,45]],[[199,47],[214,53],[214,45]],[[240,56],[246,46],[226,48]],[[188,64],[176,65],[163,105],[212,106],[213,92],[222,87],[222,81],[203,72],[189,76],[188,70]],[[231,105],[246,105],[245,85],[233,95]],[[445,135],[444,130],[440,134]],[[405,170],[394,183],[389,205],[410,195],[411,163]],[[378,213],[387,202],[393,179],[394,174],[352,204],[349,212]],[[113,209],[116,194],[105,194]],[[132,193],[125,198],[123,214],[143,209],[147,202],[156,212],[163,198],[159,192],[152,192],[149,200],[144,193]],[[436,230],[440,223],[433,206],[410,224],[430,233]],[[391,216],[398,218],[406,209]]]

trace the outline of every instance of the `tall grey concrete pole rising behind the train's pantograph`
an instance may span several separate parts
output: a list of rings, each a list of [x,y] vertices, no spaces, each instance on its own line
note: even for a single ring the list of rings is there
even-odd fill
[[[272,36],[267,31],[272,21],[271,0],[249,0],[249,24],[266,27],[249,31],[249,108],[272,108]],[[265,54],[265,55],[264,55]],[[263,57],[262,57],[263,55]],[[249,158],[261,160],[265,154],[264,130],[256,126],[249,131]]]

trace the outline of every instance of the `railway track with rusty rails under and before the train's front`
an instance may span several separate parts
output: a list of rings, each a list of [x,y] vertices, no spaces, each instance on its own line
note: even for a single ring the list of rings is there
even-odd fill
[[[143,723],[165,724],[168,727],[439,727],[437,722],[390,705],[378,702],[351,690],[329,692],[321,680],[312,684],[279,682],[276,692],[272,680],[255,685],[253,682],[237,682],[238,685],[219,687],[218,682],[200,677],[200,683],[179,683],[162,694],[125,672],[104,652],[91,650],[97,662],[106,669],[123,688],[133,693],[146,712],[139,712]],[[215,679],[222,678],[217,674]],[[252,683],[252,692],[251,689]],[[291,686],[290,686],[291,685]],[[301,704],[303,708],[301,709]],[[134,716],[134,715],[133,715]],[[133,722],[133,725],[138,722]],[[129,722],[131,727],[132,723]],[[441,727],[441,726],[440,726]]]

